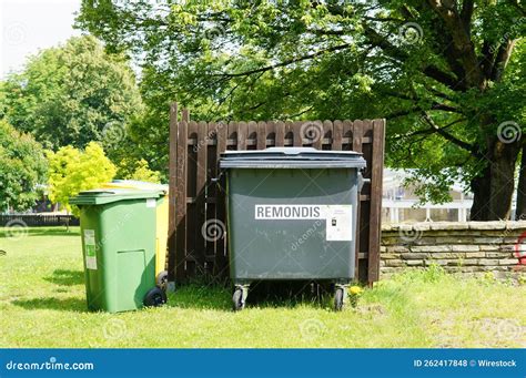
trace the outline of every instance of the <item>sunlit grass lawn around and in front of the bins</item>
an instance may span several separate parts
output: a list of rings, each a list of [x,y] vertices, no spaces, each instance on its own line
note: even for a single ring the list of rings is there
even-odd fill
[[[183,287],[169,305],[117,315],[85,309],[78,228],[0,228],[0,347],[526,347],[526,285],[414,270],[366,289],[356,308],[253,303]]]

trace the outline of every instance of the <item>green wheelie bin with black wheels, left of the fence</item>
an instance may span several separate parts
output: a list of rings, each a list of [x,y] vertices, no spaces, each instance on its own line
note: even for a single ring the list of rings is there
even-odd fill
[[[163,197],[163,191],[103,188],[70,200],[80,208],[90,310],[119,313],[166,302],[155,282],[155,217]]]

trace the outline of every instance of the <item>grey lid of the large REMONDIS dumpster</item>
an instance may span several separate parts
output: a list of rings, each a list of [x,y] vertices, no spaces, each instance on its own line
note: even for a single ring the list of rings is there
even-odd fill
[[[366,163],[360,152],[326,151],[313,147],[270,147],[252,151],[225,151],[221,154],[220,167],[271,167],[271,168],[324,168],[356,167]]]

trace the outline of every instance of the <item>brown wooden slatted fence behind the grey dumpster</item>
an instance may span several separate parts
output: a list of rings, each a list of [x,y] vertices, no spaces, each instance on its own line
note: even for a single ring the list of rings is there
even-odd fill
[[[385,120],[195,122],[170,109],[169,279],[229,276],[224,193],[212,178],[225,150],[313,146],[362,152],[371,178],[360,196],[356,278],[378,279]],[[223,186],[223,185],[221,185]]]

